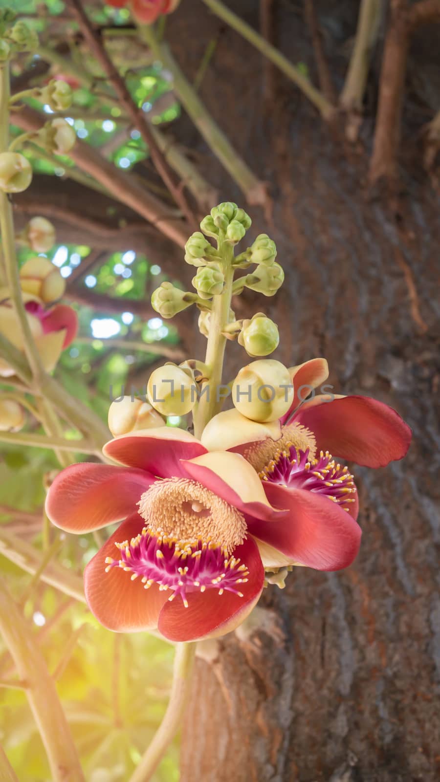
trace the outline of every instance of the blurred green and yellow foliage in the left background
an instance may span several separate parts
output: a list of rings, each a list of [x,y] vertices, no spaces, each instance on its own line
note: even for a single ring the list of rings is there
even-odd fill
[[[87,50],[79,51],[73,45],[75,26],[67,19],[66,5],[62,0],[0,0],[0,7],[13,7],[31,24],[45,46],[55,46],[58,41],[68,41],[72,62],[81,65],[90,77],[99,76],[96,63]],[[139,47],[133,45],[129,30],[127,9],[114,9],[99,2],[87,4],[88,13],[96,24],[111,25],[114,35],[108,41],[109,50],[117,66],[127,80],[133,98],[146,113],[151,113],[154,124],[170,123],[179,117],[179,105],[171,93],[168,74],[162,72],[160,63],[145,63],[139,58]],[[27,16],[30,14],[31,16]],[[121,27],[118,35],[117,27]],[[69,55],[67,54],[67,57]],[[13,63],[13,75],[20,77],[38,64],[38,55],[23,55]],[[58,69],[59,70],[59,69]],[[52,69],[52,75],[57,69]],[[38,79],[31,84],[44,84]],[[70,124],[81,138],[111,160],[115,166],[132,169],[148,165],[148,149],[139,131],[131,130],[123,118],[121,109],[114,102],[106,101],[96,87],[85,88],[77,84],[74,103],[67,112]],[[41,111],[36,101],[31,106]],[[50,113],[49,107],[43,109]],[[71,117],[70,117],[71,113]],[[13,135],[20,131],[12,127]],[[25,154],[31,160],[37,174],[49,174],[56,178],[69,174],[73,163],[68,158],[50,157],[35,147],[27,147]],[[92,192],[92,191],[91,191]],[[62,237],[59,237],[62,242]],[[115,346],[111,339],[128,339],[131,343],[179,342],[179,334],[169,323],[153,317],[147,322],[130,311],[130,300],[148,300],[150,293],[167,279],[157,264],[146,255],[135,253],[130,246],[124,252],[101,253],[95,263],[88,266],[93,248],[78,244],[57,244],[47,257],[60,268],[70,285],[85,293],[127,299],[127,308],[121,313],[111,309],[75,305],[80,319],[79,339],[63,353],[56,368],[56,378],[73,396],[90,405],[103,419],[109,407],[110,386],[114,394],[121,393],[121,386],[131,382],[133,369],[147,368],[157,361],[157,354],[136,350],[133,346]],[[19,263],[34,253],[20,246]],[[81,264],[87,269],[81,272]],[[173,281],[176,282],[176,281]],[[13,392],[6,380],[0,390]],[[175,425],[179,421],[170,421]],[[31,416],[27,429],[42,432]],[[65,436],[74,436],[67,430]],[[2,530],[13,533],[41,551],[56,534],[43,518],[45,476],[58,468],[52,450],[31,449],[0,443],[0,536]],[[85,457],[78,454],[78,461]],[[106,531],[105,531],[106,533]],[[103,533],[103,535],[105,534]],[[98,534],[65,536],[63,547],[56,559],[78,574],[97,551],[101,540]],[[32,576],[0,556],[2,577],[17,601],[32,583]],[[44,652],[49,670],[62,669],[57,679],[58,691],[67,713],[74,739],[84,764],[88,782],[119,782],[128,777],[160,723],[168,701],[171,682],[173,648],[163,640],[145,633],[115,635],[104,630],[86,610],[85,605],[61,594],[41,580],[32,585],[31,597],[24,604],[27,618],[34,626],[34,637]],[[70,648],[70,639],[75,643]],[[65,656],[67,655],[67,656]],[[9,653],[0,649],[0,679],[13,680],[16,674]],[[23,691],[2,687],[0,689],[0,741],[23,782],[50,782],[49,767],[34,719]],[[155,782],[173,782],[179,779],[178,744],[175,742],[154,776]]]

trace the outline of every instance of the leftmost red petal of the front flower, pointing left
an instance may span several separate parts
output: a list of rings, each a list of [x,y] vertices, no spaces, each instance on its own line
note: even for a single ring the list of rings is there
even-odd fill
[[[153,476],[142,470],[72,465],[52,483],[46,513],[55,526],[67,532],[92,532],[134,513],[136,503],[153,482]],[[141,529],[142,523],[141,519]]]

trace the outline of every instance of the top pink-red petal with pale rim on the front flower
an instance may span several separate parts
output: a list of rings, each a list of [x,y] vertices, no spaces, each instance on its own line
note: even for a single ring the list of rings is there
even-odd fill
[[[137,467],[159,478],[179,478],[185,475],[181,459],[193,459],[206,454],[198,439],[171,426],[141,429],[110,440],[103,454],[121,465]]]

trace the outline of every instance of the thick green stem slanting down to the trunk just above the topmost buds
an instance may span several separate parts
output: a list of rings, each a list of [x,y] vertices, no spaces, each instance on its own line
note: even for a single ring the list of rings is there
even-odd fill
[[[215,156],[218,157],[218,160],[220,160],[236,184],[239,185],[247,198],[247,202],[264,204],[266,201],[264,183],[255,176],[247,166],[247,163],[233,149],[227,136],[215,124],[215,121],[197,95],[197,91],[194,90],[189,81],[187,81],[185,74],[182,73],[168,46],[157,40],[152,26],[144,25],[140,29],[142,38],[150,46],[154,56],[160,59],[164,68],[172,74],[175,91],[179,95],[179,99],[182,101],[189,117],[191,117],[200,134],[211,147]]]

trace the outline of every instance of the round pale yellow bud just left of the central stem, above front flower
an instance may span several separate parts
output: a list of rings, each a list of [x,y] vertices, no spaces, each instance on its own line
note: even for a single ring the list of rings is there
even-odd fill
[[[155,369],[146,392],[150,404],[162,415],[186,415],[196,401],[193,378],[175,364],[165,364]]]

